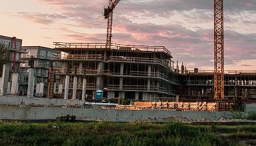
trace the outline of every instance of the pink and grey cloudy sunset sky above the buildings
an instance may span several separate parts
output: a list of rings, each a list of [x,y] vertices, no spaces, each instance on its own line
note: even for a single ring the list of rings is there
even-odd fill
[[[114,1],[114,0],[113,0]],[[108,0],[0,0],[0,35],[23,46],[106,42]],[[186,69],[213,70],[213,0],[121,0],[112,42],[165,46]],[[224,70],[256,71],[256,1],[223,0]],[[176,66],[176,64],[174,65]]]

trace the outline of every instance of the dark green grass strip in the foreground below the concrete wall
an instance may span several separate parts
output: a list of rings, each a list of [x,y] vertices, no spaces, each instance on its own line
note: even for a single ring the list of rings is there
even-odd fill
[[[255,132],[256,126],[191,126],[182,122],[0,122],[0,145],[253,145]]]

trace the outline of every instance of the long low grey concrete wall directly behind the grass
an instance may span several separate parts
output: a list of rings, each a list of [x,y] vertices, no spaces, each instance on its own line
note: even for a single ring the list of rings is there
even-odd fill
[[[104,119],[112,122],[132,122],[154,117],[182,116],[201,120],[203,118],[227,118],[229,112],[185,112],[166,110],[106,110],[97,108],[40,108],[0,106],[0,118],[5,119],[55,119],[75,115],[77,119]]]

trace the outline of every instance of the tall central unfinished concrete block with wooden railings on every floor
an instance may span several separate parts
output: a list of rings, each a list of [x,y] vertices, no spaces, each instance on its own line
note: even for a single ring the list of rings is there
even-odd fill
[[[104,43],[55,43],[54,68],[60,77],[55,92],[64,99],[103,98],[156,100],[176,96],[179,79],[171,53],[163,46],[133,46]],[[87,96],[86,96],[87,94]]]

